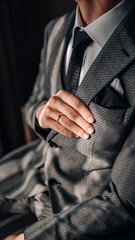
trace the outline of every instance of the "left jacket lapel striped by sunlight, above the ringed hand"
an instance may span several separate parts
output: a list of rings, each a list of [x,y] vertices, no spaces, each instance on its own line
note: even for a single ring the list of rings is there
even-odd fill
[[[67,49],[69,39],[71,37],[73,25],[75,18],[75,10],[68,14],[65,19],[63,18],[63,26],[57,32],[57,29],[54,29],[57,32],[55,39],[53,37],[53,32],[50,36],[53,38],[53,43],[50,46],[51,57],[48,61],[48,72],[49,78],[51,81],[51,95],[56,94],[60,89],[64,88],[63,73],[64,73],[64,57]],[[61,20],[61,19],[60,19]],[[58,25],[62,23],[58,23]],[[52,54],[53,53],[53,54]],[[52,68],[53,66],[53,68]]]

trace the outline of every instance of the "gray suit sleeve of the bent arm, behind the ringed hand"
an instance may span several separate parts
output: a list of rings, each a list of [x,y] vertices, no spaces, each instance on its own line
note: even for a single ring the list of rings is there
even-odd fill
[[[50,98],[49,83],[47,82],[46,76],[46,56],[47,56],[47,42],[48,42],[48,32],[51,23],[49,23],[44,32],[44,44],[40,54],[40,64],[39,73],[36,78],[33,91],[29,97],[27,103],[25,104],[25,118],[28,125],[41,137],[45,138],[48,130],[43,130],[40,128],[36,122],[35,113],[39,106],[44,104]]]

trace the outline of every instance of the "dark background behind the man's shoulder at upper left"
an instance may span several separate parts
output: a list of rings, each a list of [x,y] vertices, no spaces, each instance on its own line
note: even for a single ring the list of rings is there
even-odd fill
[[[38,72],[43,31],[74,0],[0,1],[0,156],[25,143],[20,108]]]

